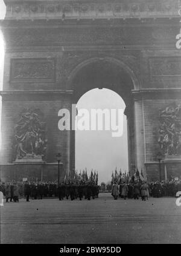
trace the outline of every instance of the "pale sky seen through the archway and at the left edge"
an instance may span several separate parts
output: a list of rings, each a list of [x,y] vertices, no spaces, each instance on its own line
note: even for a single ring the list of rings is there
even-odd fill
[[[5,6],[0,0],[0,19],[4,19]],[[2,90],[2,73],[4,48],[0,34],[0,87]],[[125,108],[124,101],[114,91],[94,89],[84,94],[77,104],[78,110],[86,108]],[[0,102],[1,114],[1,102]],[[57,125],[57,124],[56,124]],[[112,131],[76,131],[75,133],[75,168],[79,171],[87,168],[98,171],[98,183],[111,180],[115,168],[128,171],[127,122],[124,116],[123,135],[112,137]],[[0,141],[1,142],[1,141]]]

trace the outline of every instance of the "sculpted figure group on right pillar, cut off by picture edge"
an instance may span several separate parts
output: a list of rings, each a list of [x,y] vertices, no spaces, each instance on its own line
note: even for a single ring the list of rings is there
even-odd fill
[[[181,154],[181,106],[160,110],[159,145],[165,155]]]

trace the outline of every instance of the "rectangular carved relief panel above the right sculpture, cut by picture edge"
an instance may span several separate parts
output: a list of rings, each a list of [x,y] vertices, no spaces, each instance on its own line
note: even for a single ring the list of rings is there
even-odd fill
[[[150,57],[150,80],[181,79],[181,57]]]

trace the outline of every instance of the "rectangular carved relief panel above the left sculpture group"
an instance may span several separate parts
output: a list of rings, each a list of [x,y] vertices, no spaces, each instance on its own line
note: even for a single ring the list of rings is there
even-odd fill
[[[54,59],[11,59],[10,82],[54,82],[54,80]]]

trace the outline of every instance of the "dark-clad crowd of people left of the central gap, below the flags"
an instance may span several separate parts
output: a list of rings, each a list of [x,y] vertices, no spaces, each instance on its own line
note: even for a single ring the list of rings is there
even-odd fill
[[[98,198],[99,186],[94,181],[62,182],[59,185],[56,182],[8,182],[0,183],[0,191],[6,202],[19,202],[19,196],[25,196],[27,202],[30,198],[36,200],[52,196],[59,197],[59,200],[90,200]]]

